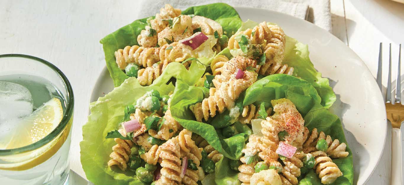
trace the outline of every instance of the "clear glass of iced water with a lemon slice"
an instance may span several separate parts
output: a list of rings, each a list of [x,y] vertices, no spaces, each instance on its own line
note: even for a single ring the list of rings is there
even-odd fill
[[[0,184],[67,184],[73,105],[55,65],[0,55]]]

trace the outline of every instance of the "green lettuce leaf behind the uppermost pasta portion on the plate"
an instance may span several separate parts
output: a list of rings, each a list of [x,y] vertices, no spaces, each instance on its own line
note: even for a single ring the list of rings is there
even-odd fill
[[[200,15],[217,21],[223,27],[223,34],[227,35],[229,38],[242,24],[237,11],[225,3],[192,6],[185,11],[182,11],[182,14]],[[151,18],[154,17],[147,17],[133,21],[100,40],[100,43],[103,45],[107,68],[112,80],[114,81],[115,87],[119,86],[125,79],[129,78],[129,76],[127,76],[116,64],[114,55],[115,51],[122,49],[125,46],[139,45],[139,43],[137,43],[137,36],[143,29],[145,29],[147,19]]]

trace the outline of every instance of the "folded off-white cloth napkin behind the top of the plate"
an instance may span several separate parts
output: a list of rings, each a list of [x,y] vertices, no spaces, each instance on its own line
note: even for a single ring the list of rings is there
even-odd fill
[[[331,32],[331,13],[329,0],[142,0],[138,17],[149,17],[160,12],[164,4],[185,10],[189,6],[198,6],[215,2],[224,2],[231,6],[263,8],[282,12],[305,19]],[[243,18],[243,17],[242,17]]]

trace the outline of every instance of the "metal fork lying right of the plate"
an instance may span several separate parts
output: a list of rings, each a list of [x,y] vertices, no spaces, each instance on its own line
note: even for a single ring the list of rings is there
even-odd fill
[[[396,102],[391,101],[391,44],[389,53],[389,76],[387,78],[386,92],[386,112],[387,119],[391,122],[393,130],[391,131],[391,185],[402,185],[402,167],[401,167],[401,131],[400,126],[404,121],[404,105],[401,105],[401,44],[398,54],[398,70],[396,84]],[[382,74],[382,43],[379,49],[379,69],[377,70],[377,83],[381,90]]]

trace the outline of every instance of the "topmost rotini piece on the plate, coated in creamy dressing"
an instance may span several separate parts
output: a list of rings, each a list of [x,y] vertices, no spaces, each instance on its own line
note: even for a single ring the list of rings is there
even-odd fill
[[[156,18],[150,20],[151,28],[155,29],[157,33],[160,33],[164,28],[168,26],[168,19],[173,19],[181,15],[181,10],[173,8],[170,4],[166,4],[164,8],[160,9],[160,13],[156,14]]]

